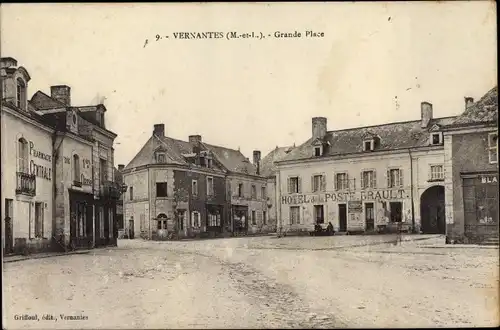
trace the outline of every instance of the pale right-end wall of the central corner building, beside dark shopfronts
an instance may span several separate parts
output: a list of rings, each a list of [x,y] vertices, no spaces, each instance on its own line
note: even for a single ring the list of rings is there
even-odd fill
[[[269,219],[269,211],[267,209],[267,181],[265,178],[257,179],[243,175],[231,175],[227,178],[229,194],[231,196],[231,205],[244,205],[248,206],[248,232],[257,233],[259,231],[269,232],[273,229],[273,225],[266,221],[263,223],[263,211],[266,211],[267,218]],[[238,196],[238,185],[243,184],[243,196]],[[257,190],[256,198],[252,198],[252,185],[255,185]],[[266,195],[262,196],[261,187],[266,187]],[[252,211],[255,211],[256,224],[253,225],[251,221]]]

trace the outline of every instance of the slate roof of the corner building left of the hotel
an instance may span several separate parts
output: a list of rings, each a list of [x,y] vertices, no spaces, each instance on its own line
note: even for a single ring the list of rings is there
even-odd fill
[[[193,143],[182,140],[173,139],[170,137],[158,137],[153,135],[144,144],[141,150],[135,155],[130,163],[125,166],[125,170],[135,167],[154,164],[154,152],[158,148],[165,151],[166,164],[177,165],[190,165],[183,154],[190,154],[193,152]],[[210,150],[218,161],[225,169],[242,174],[256,175],[256,167],[248,161],[248,159],[238,150],[229,149],[221,146],[214,146],[207,143],[201,143],[202,150]],[[214,170],[222,171],[221,168],[214,168]]]

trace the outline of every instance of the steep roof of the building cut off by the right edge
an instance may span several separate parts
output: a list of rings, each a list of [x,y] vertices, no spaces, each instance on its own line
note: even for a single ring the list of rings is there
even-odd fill
[[[498,123],[498,86],[493,87],[479,101],[469,106],[449,126],[486,123]]]

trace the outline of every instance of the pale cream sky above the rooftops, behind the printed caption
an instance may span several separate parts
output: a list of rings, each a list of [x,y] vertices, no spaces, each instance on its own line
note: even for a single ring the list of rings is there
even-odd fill
[[[418,120],[422,101],[452,116],[497,84],[493,1],[2,4],[0,28],[1,56],[28,70],[30,97],[63,84],[72,105],[106,106],[115,165],[154,124],[251,159],[305,142],[315,116],[328,130]],[[266,38],[173,37],[211,31]]]

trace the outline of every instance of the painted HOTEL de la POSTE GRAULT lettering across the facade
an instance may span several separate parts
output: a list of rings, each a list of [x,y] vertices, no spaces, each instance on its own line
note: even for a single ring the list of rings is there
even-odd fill
[[[347,202],[359,200],[392,200],[409,198],[404,189],[362,190],[337,193],[320,193],[310,195],[281,196],[281,204],[308,204],[325,202]]]

